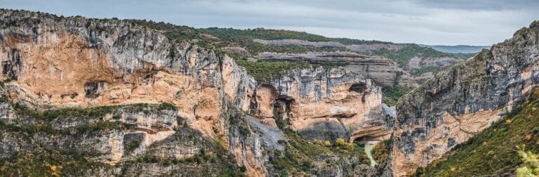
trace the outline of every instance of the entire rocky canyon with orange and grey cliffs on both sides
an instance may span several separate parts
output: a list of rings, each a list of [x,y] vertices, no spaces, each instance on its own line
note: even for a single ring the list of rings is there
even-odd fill
[[[468,60],[382,53],[415,44],[248,40],[270,48],[257,51],[220,46],[215,29],[190,39],[149,25],[163,24],[0,9],[3,174],[406,176],[539,84],[539,22]],[[262,80],[240,65],[260,61],[302,67]],[[415,72],[427,67],[439,72]],[[415,89],[386,105],[397,87]],[[371,166],[359,146],[387,140]],[[47,163],[11,170],[34,159]]]

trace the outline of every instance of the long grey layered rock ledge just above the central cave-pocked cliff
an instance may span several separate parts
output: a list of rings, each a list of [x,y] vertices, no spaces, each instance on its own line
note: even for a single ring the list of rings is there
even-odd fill
[[[309,52],[309,53],[259,53],[263,60],[308,62],[327,65],[341,65],[345,70],[361,74],[371,79],[376,86],[414,86],[408,72],[404,72],[392,61],[377,55],[362,55],[352,52]]]

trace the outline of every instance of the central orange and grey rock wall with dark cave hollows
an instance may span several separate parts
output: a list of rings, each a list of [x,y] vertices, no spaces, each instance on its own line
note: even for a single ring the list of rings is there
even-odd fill
[[[292,70],[260,84],[255,95],[253,111],[262,122],[274,125],[275,114],[281,114],[279,119],[310,140],[346,139],[357,131],[385,139],[391,133],[382,115],[380,87],[346,70]],[[372,126],[380,132],[366,131]]]

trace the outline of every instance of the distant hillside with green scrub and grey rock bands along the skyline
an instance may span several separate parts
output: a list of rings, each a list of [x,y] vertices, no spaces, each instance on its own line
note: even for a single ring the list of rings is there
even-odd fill
[[[188,41],[204,48],[213,48],[215,51],[227,53],[236,60],[243,60],[240,62],[240,65],[246,67],[251,74],[257,73],[257,67],[268,67],[271,70],[281,70],[279,67],[272,67],[272,65],[256,62],[256,60],[274,61],[274,56],[279,55],[279,53],[292,53],[289,55],[292,55],[294,59],[287,60],[287,63],[300,62],[320,64],[315,60],[312,60],[312,57],[294,55],[294,53],[321,53],[322,55],[334,55],[328,58],[328,60],[339,60],[339,56],[335,55],[335,52],[349,52],[357,55],[365,55],[363,58],[384,57],[393,60],[397,63],[397,66],[395,67],[403,70],[405,74],[417,77],[415,78],[415,81],[404,81],[406,82],[404,85],[410,85],[413,83],[421,83],[443,68],[460,63],[469,58],[470,55],[473,55],[444,53],[430,47],[423,47],[416,44],[393,44],[385,41],[328,38],[317,34],[280,29],[232,29],[218,27],[194,29],[192,27],[172,25],[164,22],[147,22],[145,20],[128,21],[163,31],[169,39]],[[298,58],[302,58],[302,60],[298,60]],[[354,60],[363,59],[357,58]],[[331,62],[326,62],[324,64],[331,65]],[[342,63],[340,64],[341,65],[339,66],[342,66]],[[293,65],[311,67],[311,65]],[[390,69],[382,70],[395,69],[390,67]],[[395,73],[393,73],[393,75],[395,75]],[[271,79],[271,77],[259,77],[259,80],[266,79]]]

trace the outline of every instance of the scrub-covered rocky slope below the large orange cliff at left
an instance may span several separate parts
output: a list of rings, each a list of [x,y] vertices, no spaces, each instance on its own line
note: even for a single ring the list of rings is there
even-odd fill
[[[189,127],[185,119],[176,117],[176,107],[168,103],[73,107],[39,112],[13,104],[6,96],[1,96],[0,105],[4,116],[18,117],[0,119],[0,176],[106,176],[107,173],[135,176],[145,171],[146,166],[173,169],[174,174],[194,176],[208,173],[241,176],[245,172],[245,167],[237,166],[234,157],[222,145],[208,140]],[[173,128],[175,133],[170,138],[146,146],[145,139],[136,132],[142,128],[131,117],[133,114],[139,117],[157,114],[159,119],[170,115],[170,121],[182,125]],[[103,120],[107,117],[109,120]],[[111,158],[107,150],[116,147],[107,143],[114,142],[121,135],[124,135],[124,142],[119,144],[119,148],[123,148],[130,158],[110,164],[107,162]],[[161,157],[161,152],[166,152],[163,150],[170,147],[169,144],[191,151],[194,150],[192,147],[200,147],[200,150],[192,151],[192,157]]]

